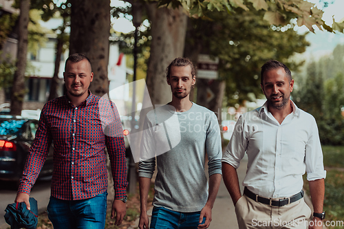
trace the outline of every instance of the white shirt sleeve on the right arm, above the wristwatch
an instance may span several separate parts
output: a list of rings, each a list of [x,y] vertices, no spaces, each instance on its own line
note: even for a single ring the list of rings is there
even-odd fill
[[[326,177],[323,167],[323,151],[321,150],[320,138],[316,121],[312,120],[312,128],[308,142],[305,146],[305,171],[308,181]]]

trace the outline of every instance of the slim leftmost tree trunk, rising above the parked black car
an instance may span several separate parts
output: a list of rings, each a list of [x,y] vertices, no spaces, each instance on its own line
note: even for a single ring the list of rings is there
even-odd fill
[[[21,0],[19,15],[19,41],[17,51],[17,70],[14,72],[11,94],[11,114],[20,115],[25,96],[25,67],[28,53],[28,23],[30,0]]]

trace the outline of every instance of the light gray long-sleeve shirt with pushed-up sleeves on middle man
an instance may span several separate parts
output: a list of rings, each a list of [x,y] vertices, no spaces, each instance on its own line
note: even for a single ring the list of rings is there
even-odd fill
[[[150,111],[144,122],[139,176],[152,177],[156,156],[153,206],[178,212],[202,210],[208,199],[206,155],[209,176],[221,174],[221,137],[213,111],[195,103],[184,112],[170,105]]]

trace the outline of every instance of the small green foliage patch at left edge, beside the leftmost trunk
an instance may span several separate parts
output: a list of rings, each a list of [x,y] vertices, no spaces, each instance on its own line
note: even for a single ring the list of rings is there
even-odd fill
[[[16,69],[16,63],[11,61],[10,54],[0,61],[0,88],[8,88],[12,85]]]

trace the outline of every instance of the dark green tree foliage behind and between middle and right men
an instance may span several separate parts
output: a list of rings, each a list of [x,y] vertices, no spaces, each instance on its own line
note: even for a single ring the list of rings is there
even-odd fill
[[[309,45],[305,35],[292,30],[292,24],[277,28],[262,20],[264,12],[252,8],[237,11],[232,15],[209,13],[213,21],[192,19],[185,45],[190,52],[200,47],[200,53],[219,57],[219,78],[226,80],[227,105],[251,100],[250,93],[260,97],[261,65],[277,59],[296,70],[299,64],[289,57],[305,52]]]

